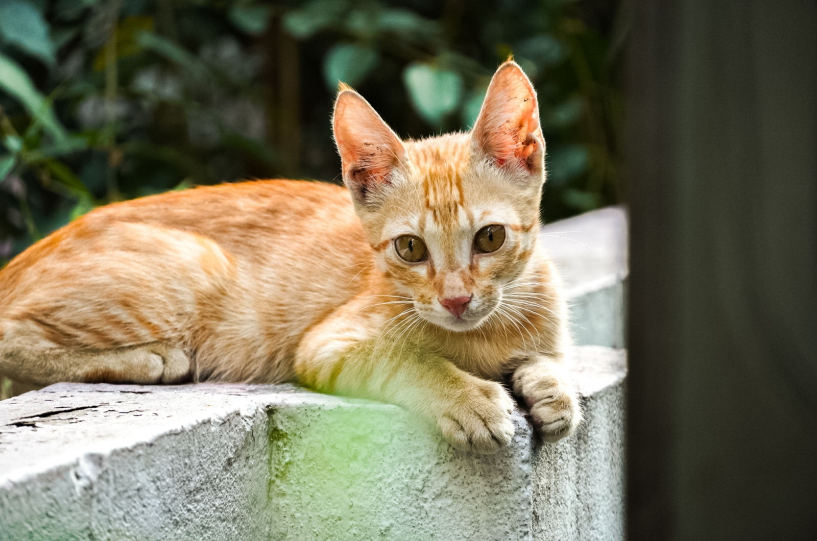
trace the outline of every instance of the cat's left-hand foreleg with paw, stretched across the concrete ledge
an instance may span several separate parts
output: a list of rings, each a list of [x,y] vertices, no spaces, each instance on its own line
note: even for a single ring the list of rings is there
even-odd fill
[[[403,406],[435,423],[462,450],[493,453],[513,436],[513,400],[416,343],[373,336],[378,324],[341,310],[301,340],[295,372],[315,390]]]

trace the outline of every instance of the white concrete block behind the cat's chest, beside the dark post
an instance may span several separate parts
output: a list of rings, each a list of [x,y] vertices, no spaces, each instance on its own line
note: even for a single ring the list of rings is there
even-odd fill
[[[625,347],[627,213],[608,207],[556,221],[541,239],[565,280],[574,341]]]

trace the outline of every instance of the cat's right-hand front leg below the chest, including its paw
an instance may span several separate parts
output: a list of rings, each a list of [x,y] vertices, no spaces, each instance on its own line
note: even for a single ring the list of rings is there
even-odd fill
[[[511,378],[516,396],[525,400],[534,426],[545,441],[568,436],[582,422],[582,409],[564,361],[540,355],[524,363]]]

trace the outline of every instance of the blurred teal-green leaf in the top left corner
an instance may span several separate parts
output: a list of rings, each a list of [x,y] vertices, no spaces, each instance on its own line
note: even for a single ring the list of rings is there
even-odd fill
[[[48,25],[29,2],[0,2],[0,35],[7,43],[54,65],[54,43],[48,37]]]

